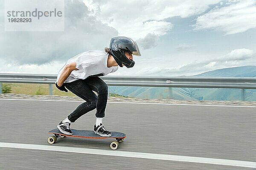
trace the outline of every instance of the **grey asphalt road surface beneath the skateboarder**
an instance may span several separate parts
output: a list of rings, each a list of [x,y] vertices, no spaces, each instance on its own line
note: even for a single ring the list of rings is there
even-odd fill
[[[49,145],[47,132],[79,102],[0,100],[0,142]],[[91,129],[95,111],[71,128]],[[256,108],[108,103],[105,127],[126,133],[118,151],[256,161]],[[113,139],[66,137],[54,146],[110,150]],[[115,151],[113,151],[115,152]],[[172,169],[252,168],[86,153],[0,147],[0,169]]]

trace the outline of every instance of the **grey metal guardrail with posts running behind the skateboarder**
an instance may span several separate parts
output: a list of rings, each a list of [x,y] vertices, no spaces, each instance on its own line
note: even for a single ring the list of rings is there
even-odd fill
[[[169,88],[239,88],[256,89],[256,78],[242,77],[137,77],[105,76],[101,77],[110,86],[141,86]],[[52,95],[52,84],[56,74],[0,74],[0,82],[49,84]],[[1,88],[0,88],[1,92]],[[243,97],[244,98],[244,97]]]

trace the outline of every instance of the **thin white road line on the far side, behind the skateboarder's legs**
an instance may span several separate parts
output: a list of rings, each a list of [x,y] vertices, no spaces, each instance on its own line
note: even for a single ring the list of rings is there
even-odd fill
[[[47,99],[0,99],[0,100],[22,100],[22,101],[47,101],[47,102],[84,102],[79,100],[47,100]],[[241,108],[256,108],[256,106],[244,105],[201,105],[201,104],[175,104],[175,103],[146,103],[146,102],[108,102],[121,104],[143,104],[143,105],[186,105],[186,106],[215,106],[215,107],[241,107]]]

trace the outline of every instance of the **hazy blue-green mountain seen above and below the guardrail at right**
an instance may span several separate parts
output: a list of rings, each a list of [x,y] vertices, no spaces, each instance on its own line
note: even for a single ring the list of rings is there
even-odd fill
[[[256,77],[256,66],[223,68],[195,77]],[[140,99],[241,100],[241,89],[224,88],[154,88],[110,86],[109,92]],[[256,101],[256,90],[246,89],[245,100]]]

